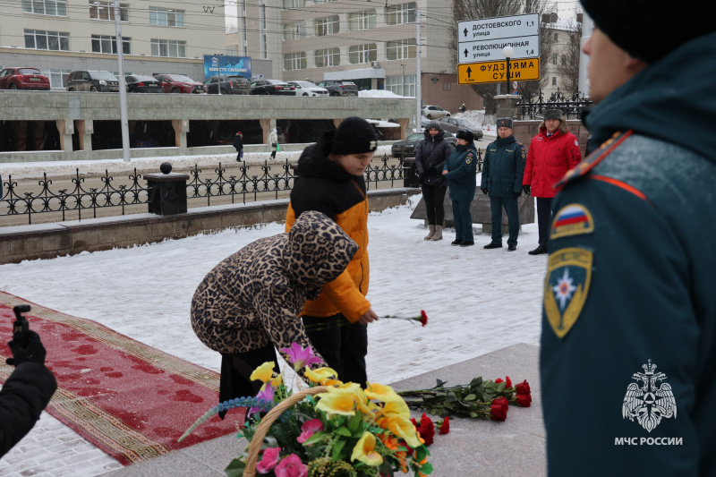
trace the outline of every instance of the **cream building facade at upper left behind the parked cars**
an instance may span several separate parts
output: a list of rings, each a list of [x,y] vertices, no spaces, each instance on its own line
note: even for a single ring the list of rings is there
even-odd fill
[[[203,80],[203,55],[225,52],[225,11],[183,0],[120,2],[125,74]],[[118,73],[111,0],[16,0],[0,16],[0,64],[31,66],[64,88],[72,70]]]

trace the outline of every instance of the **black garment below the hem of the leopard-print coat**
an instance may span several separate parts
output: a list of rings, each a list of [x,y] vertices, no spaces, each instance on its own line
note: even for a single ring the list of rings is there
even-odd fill
[[[273,343],[246,353],[221,353],[221,380],[218,388],[218,402],[223,403],[236,397],[256,396],[263,383],[251,381],[251,373],[264,362],[272,361],[279,371],[276,350]],[[248,411],[248,410],[247,410]],[[218,413],[224,419],[226,411]]]

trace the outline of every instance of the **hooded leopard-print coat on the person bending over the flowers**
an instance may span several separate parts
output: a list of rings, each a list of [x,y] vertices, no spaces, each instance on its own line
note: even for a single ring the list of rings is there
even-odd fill
[[[303,303],[318,297],[357,250],[325,214],[304,212],[289,233],[250,243],[204,277],[192,299],[194,333],[226,354],[270,343],[279,350],[292,343],[311,345],[298,318]]]

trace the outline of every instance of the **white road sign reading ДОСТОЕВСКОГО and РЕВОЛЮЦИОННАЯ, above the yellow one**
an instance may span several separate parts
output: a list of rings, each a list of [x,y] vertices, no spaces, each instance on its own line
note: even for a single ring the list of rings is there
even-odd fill
[[[505,59],[502,48],[515,48],[515,59],[540,56],[540,15],[528,13],[508,17],[457,22],[458,63]]]

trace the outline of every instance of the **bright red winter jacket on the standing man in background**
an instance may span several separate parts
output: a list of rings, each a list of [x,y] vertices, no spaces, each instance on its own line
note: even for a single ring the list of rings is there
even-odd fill
[[[565,121],[550,137],[542,123],[530,142],[522,183],[530,186],[533,197],[554,197],[558,192],[554,185],[581,160],[579,143]]]

